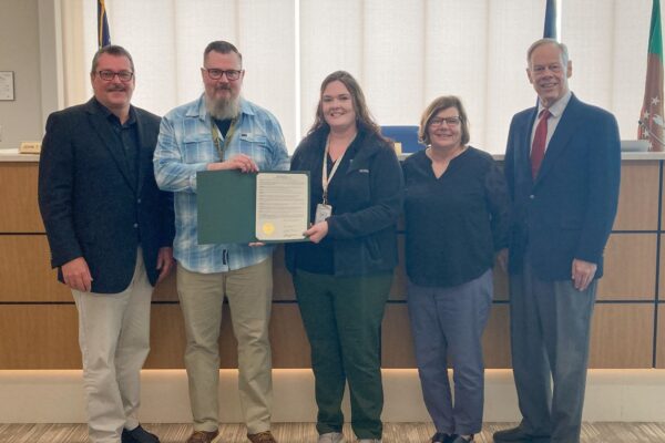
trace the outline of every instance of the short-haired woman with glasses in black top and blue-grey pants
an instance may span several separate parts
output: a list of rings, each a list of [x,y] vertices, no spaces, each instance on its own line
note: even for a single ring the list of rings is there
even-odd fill
[[[468,145],[469,122],[458,97],[436,99],[424,110],[419,138],[427,148],[403,163],[409,316],[437,427],[431,442],[463,443],[482,426],[481,338],[494,255],[508,244],[508,193],[493,158]]]

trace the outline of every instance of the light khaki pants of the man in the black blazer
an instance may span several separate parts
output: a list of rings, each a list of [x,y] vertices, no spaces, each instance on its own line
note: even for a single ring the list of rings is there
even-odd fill
[[[139,425],[141,368],[150,351],[150,300],[141,248],[134,277],[119,293],[72,290],[79,310],[88,429],[93,443],[120,443]]]

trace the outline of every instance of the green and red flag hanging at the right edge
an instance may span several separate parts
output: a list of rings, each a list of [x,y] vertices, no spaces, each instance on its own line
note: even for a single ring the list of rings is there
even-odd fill
[[[644,102],[640,113],[637,138],[648,140],[649,151],[665,151],[663,143],[663,34],[661,31],[661,0],[653,0],[648,33],[648,54]]]

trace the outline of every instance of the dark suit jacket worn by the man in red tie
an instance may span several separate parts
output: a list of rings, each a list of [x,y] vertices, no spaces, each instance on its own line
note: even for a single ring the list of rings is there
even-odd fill
[[[531,107],[515,114],[508,137],[510,271],[522,270],[529,246],[533,269],[544,280],[570,280],[574,258],[596,264],[595,277],[600,278],[618,200],[616,120],[572,95],[534,183],[530,146],[536,111]]]

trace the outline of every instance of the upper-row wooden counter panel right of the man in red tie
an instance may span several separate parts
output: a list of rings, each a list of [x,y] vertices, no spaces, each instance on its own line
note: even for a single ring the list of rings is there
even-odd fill
[[[658,229],[659,162],[625,161],[614,230]]]

